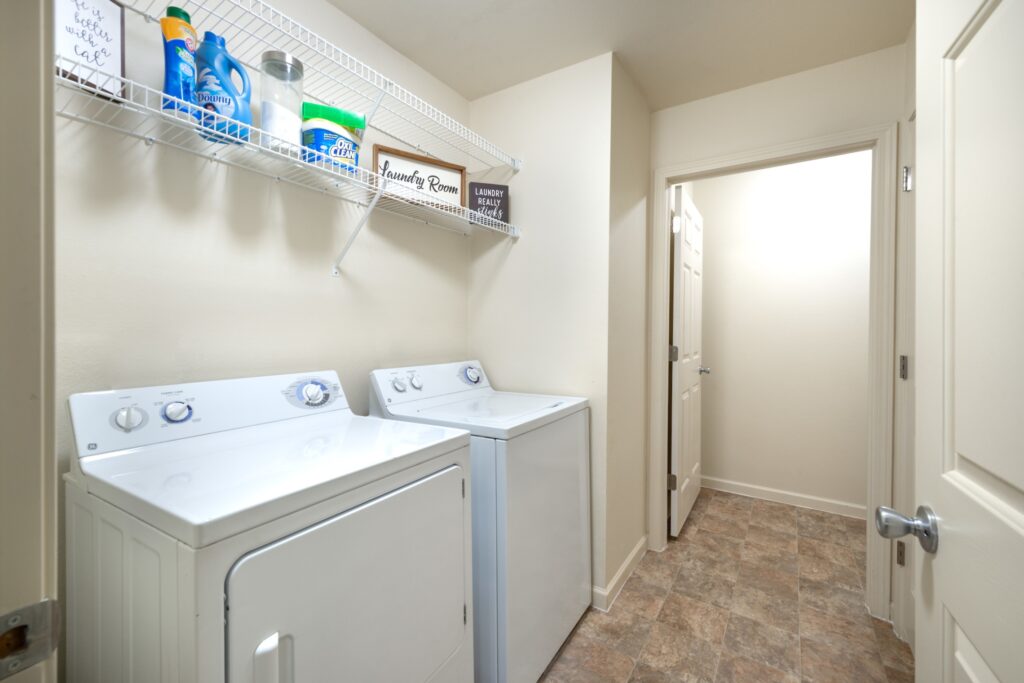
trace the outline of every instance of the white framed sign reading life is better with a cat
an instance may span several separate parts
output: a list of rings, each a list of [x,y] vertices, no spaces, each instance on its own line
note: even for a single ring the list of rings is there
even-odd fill
[[[82,65],[81,71],[61,73],[112,95],[121,94],[119,79],[125,75],[125,10],[115,0],[54,0],[54,48],[65,59]]]

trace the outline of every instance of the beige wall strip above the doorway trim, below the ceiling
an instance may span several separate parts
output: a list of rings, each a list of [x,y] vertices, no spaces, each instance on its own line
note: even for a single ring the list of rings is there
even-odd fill
[[[653,168],[892,123],[903,106],[904,47],[655,112]]]

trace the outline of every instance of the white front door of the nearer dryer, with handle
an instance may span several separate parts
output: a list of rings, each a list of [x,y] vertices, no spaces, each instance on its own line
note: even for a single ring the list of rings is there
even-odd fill
[[[450,664],[472,650],[465,478],[449,467],[239,559],[229,683],[462,679]]]

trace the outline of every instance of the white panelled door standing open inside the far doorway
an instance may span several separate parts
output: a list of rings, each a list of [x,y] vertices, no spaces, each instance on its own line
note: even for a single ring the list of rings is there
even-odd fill
[[[672,188],[672,414],[669,533],[679,536],[700,489],[700,345],[703,218],[682,185]],[[675,486],[672,485],[675,479]]]

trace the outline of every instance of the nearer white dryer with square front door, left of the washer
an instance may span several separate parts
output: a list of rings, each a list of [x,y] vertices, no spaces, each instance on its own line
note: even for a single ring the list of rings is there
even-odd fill
[[[69,403],[70,681],[473,680],[465,431],[333,372]]]

